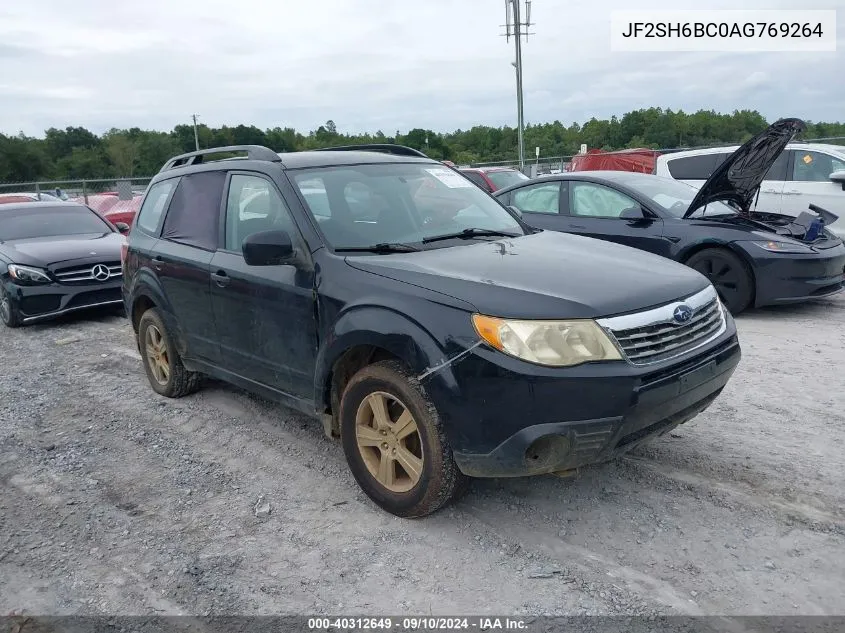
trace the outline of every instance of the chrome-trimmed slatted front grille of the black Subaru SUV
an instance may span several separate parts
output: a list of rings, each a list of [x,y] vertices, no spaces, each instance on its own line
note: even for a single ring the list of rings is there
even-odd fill
[[[689,315],[685,321],[675,318],[679,308]],[[719,336],[726,326],[722,310],[710,286],[659,308],[599,319],[599,325],[613,336],[631,363],[647,365],[681,356]]]

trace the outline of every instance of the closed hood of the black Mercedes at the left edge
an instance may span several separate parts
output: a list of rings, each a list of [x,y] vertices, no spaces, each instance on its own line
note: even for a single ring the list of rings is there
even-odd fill
[[[123,240],[120,233],[39,237],[3,242],[0,244],[0,252],[13,263],[28,266],[43,267],[76,259],[90,260],[98,256],[102,256],[103,261],[117,261],[120,259]]]

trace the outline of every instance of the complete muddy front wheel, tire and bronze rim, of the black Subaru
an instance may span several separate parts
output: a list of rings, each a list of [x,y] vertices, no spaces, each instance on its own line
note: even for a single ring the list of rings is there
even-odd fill
[[[398,361],[360,370],[340,401],[346,460],[379,507],[403,518],[431,514],[458,498],[468,478],[458,470],[434,404]]]

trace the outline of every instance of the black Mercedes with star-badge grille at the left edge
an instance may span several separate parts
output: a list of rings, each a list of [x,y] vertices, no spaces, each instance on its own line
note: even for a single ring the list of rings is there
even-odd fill
[[[7,327],[120,307],[124,237],[73,202],[0,206],[0,319]]]

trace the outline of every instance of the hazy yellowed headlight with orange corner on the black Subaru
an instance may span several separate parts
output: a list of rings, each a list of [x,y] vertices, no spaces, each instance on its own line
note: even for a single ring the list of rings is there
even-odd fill
[[[519,321],[472,315],[478,335],[497,350],[529,363],[571,367],[594,360],[621,360],[619,350],[591,319]]]

